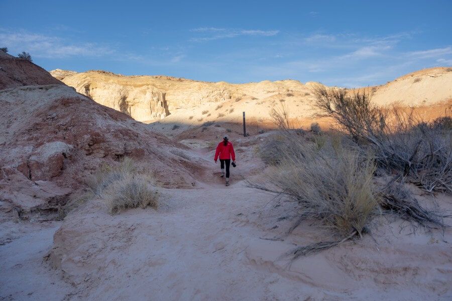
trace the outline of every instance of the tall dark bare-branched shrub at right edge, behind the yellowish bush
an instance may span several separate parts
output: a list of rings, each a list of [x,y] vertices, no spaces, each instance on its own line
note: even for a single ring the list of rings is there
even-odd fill
[[[379,167],[409,177],[428,192],[452,192],[450,131],[420,122],[413,110],[373,106],[366,93],[319,85],[315,95],[317,115],[333,117],[363,151],[370,148]]]

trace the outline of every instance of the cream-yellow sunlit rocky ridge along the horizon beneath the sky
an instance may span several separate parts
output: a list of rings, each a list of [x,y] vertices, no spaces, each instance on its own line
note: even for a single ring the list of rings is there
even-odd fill
[[[450,68],[417,71],[385,85],[369,87],[378,105],[432,106],[452,98]],[[142,122],[201,124],[240,122],[246,111],[254,124],[270,124],[269,111],[284,104],[298,125],[312,121],[312,84],[296,80],[229,84],[167,76],[123,76],[104,71],[51,71],[56,78],[94,101]],[[448,105],[446,105],[448,107]],[[439,110],[437,110],[439,111]]]

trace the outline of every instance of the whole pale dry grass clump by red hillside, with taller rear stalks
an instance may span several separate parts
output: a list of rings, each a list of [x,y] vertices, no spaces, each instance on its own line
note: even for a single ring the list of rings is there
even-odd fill
[[[152,173],[140,169],[130,158],[124,158],[117,166],[100,166],[87,182],[92,193],[105,200],[112,214],[127,208],[158,207],[158,194],[151,186]]]

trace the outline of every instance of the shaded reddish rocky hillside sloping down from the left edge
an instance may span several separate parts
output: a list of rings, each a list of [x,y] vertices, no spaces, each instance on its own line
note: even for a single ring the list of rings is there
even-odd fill
[[[8,60],[4,78],[22,77],[0,90],[0,209],[55,210],[102,163],[126,156],[154,170],[160,186],[195,185],[195,163],[174,155],[186,146],[72,87],[34,85],[59,81],[30,62]]]

